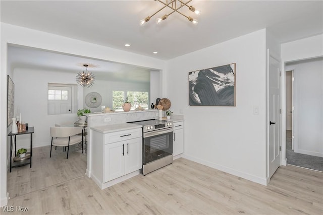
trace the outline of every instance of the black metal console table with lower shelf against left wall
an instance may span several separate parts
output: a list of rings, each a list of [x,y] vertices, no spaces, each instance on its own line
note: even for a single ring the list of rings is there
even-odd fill
[[[30,164],[30,168],[31,168],[31,158],[32,158],[32,134],[34,133],[34,127],[28,127],[28,129],[26,129],[26,131],[23,132],[18,132],[18,133],[12,133],[10,131],[10,133],[8,134],[8,136],[10,136],[10,172],[11,172],[11,168],[14,167],[21,167],[21,166],[25,166]],[[13,142],[15,144],[15,156],[17,155],[17,135],[22,135],[22,134],[30,134],[30,158],[26,158],[24,160],[21,161],[15,161],[12,162],[12,147],[13,147]],[[27,154],[26,154],[27,156]]]

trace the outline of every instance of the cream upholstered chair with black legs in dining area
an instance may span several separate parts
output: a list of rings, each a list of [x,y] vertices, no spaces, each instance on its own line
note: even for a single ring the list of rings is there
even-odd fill
[[[82,133],[82,127],[50,127],[51,145],[50,145],[50,155],[51,148],[55,147],[67,147],[67,157],[69,158],[70,146],[82,142],[82,136],[77,135]],[[83,144],[82,144],[83,151]]]

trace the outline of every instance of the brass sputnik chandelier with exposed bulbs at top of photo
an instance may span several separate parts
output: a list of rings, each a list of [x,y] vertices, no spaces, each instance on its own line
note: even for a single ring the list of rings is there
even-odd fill
[[[186,17],[188,19],[188,21],[192,22],[194,25],[198,24],[198,21],[196,19],[193,19],[192,17],[186,16],[184,14],[182,14],[181,12],[179,12],[178,10],[181,9],[182,7],[188,7],[188,9],[192,12],[194,12],[197,16],[201,14],[201,11],[194,8],[193,6],[188,6],[187,4],[190,3],[192,0],[189,1],[184,1],[184,0],[154,0],[155,2],[160,2],[161,4],[164,5],[163,8],[160,8],[158,11],[156,11],[154,14],[152,14],[151,16],[146,17],[143,20],[140,20],[140,26],[144,26],[146,24],[146,22],[148,22],[150,20],[150,18],[152,16],[154,16],[155,14],[157,14],[159,11],[163,10],[164,8],[168,7],[170,9],[172,9],[173,11],[169,14],[165,14],[163,17],[157,18],[156,19],[156,23],[159,24],[161,23],[161,21],[166,20],[168,16],[170,16],[171,14],[173,14],[174,12],[177,12],[181,15],[183,15],[184,17]]]

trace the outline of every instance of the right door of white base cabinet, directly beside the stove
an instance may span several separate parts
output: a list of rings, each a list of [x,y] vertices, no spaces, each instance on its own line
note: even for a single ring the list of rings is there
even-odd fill
[[[132,173],[142,168],[142,138],[125,141],[126,167],[125,174]]]

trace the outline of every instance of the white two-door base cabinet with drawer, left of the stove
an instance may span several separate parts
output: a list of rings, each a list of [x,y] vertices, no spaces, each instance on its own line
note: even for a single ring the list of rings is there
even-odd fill
[[[122,181],[142,168],[141,128],[92,133],[91,177],[101,187]],[[130,174],[131,173],[131,174]],[[116,180],[115,180],[116,179]]]

